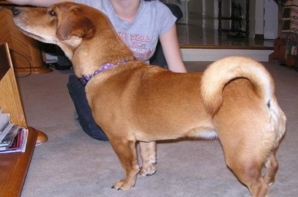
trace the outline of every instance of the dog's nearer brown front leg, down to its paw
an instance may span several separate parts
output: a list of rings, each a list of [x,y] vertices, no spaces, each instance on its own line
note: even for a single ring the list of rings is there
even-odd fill
[[[130,189],[131,187],[135,186],[137,174],[139,173],[135,141],[127,141],[120,138],[109,140],[125,171],[124,178],[116,181],[112,188],[122,190]]]

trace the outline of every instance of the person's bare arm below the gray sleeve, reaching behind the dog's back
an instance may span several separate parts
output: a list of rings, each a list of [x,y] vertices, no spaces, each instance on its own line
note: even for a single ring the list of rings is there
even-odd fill
[[[176,25],[174,24],[168,32],[160,35],[159,40],[169,70],[177,73],[186,73],[177,38]]]

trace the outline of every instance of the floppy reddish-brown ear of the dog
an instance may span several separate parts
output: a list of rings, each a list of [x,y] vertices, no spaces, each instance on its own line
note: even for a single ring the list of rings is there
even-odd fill
[[[72,36],[91,38],[95,34],[92,21],[77,12],[76,9],[72,9],[66,19],[58,22],[56,35],[59,40],[69,40]]]

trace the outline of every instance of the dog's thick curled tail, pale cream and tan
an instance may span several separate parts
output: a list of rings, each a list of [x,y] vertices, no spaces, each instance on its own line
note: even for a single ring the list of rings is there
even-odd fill
[[[275,99],[275,86],[270,73],[259,62],[251,58],[231,56],[213,62],[203,73],[201,95],[207,111],[215,115],[222,102],[224,86],[236,78],[247,78],[255,86],[264,104]]]

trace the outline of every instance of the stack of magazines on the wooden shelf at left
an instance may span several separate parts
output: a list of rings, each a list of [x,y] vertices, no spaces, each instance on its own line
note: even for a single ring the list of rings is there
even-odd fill
[[[28,130],[10,122],[10,114],[0,108],[0,154],[25,152]]]

